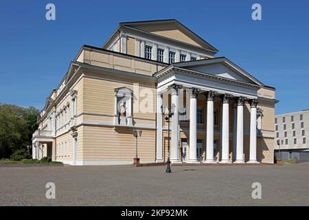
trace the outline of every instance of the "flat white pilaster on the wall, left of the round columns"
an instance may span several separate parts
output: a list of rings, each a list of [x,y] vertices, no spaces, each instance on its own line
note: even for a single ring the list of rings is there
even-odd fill
[[[157,157],[156,157],[156,162],[163,162],[161,105],[162,105],[162,95],[158,93],[157,94]]]

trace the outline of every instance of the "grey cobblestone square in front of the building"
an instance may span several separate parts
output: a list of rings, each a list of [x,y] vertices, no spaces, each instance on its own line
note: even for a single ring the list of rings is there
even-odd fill
[[[56,184],[46,199],[45,184]],[[252,199],[253,182],[262,199]],[[283,166],[0,167],[0,206],[308,206],[309,162]]]

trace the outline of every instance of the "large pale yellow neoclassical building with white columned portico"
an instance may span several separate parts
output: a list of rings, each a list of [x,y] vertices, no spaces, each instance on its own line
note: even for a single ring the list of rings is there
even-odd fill
[[[176,20],[119,23],[102,47],[80,48],[48,96],[33,157],[165,162],[170,135],[173,163],[273,163],[275,89],[216,53]]]

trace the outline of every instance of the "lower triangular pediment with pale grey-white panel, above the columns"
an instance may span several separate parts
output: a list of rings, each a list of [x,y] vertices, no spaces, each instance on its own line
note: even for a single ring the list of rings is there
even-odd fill
[[[205,74],[211,74],[221,78],[240,81],[242,83],[250,83],[253,85],[263,84],[243,69],[229,61],[227,58],[212,58],[208,60],[190,61],[184,63],[176,63],[175,67],[192,70]]]

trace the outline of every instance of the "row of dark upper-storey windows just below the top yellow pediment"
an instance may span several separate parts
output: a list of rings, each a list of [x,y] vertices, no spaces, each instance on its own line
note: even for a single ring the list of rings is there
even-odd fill
[[[152,60],[152,46],[146,45],[145,46],[145,58],[148,60]],[[187,55],[180,54],[179,61],[184,62],[187,60]],[[196,61],[195,56],[191,56],[191,61]],[[164,62],[164,50],[161,48],[157,48],[157,61],[163,63]],[[176,62],[176,53],[175,52],[168,52],[168,63],[175,63]]]

